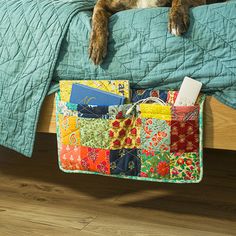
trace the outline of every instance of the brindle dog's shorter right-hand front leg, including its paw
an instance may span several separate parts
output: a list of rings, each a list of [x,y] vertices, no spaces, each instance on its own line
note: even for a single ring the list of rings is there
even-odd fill
[[[206,4],[205,0],[173,0],[169,14],[169,32],[180,36],[189,28],[189,8]]]

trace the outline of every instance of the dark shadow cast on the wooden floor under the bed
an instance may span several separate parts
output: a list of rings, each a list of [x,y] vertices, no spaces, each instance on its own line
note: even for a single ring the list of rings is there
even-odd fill
[[[30,179],[70,187],[99,199],[153,191],[151,197],[122,201],[120,206],[236,220],[236,152],[205,150],[200,184],[160,184],[109,177],[65,174],[57,164],[55,135],[38,134],[31,159],[0,148],[0,173],[11,179]],[[155,194],[163,191],[166,194]],[[223,213],[223,214],[222,214]]]

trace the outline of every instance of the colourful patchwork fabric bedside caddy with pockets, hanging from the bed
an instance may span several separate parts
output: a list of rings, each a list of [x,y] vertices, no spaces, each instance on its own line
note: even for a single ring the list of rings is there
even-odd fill
[[[135,180],[198,183],[203,175],[204,96],[195,106],[174,107],[177,92],[136,90],[132,103],[155,96],[166,106],[89,106],[56,96],[59,166]]]

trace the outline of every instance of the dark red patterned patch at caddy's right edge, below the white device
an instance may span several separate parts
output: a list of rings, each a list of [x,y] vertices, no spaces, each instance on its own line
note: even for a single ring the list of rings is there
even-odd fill
[[[171,152],[198,152],[199,126],[197,120],[171,121]]]

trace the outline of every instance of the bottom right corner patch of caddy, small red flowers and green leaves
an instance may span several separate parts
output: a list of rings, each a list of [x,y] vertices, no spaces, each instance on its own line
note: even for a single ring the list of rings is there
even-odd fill
[[[200,160],[197,153],[171,153],[170,178],[174,180],[196,180],[200,175]]]

